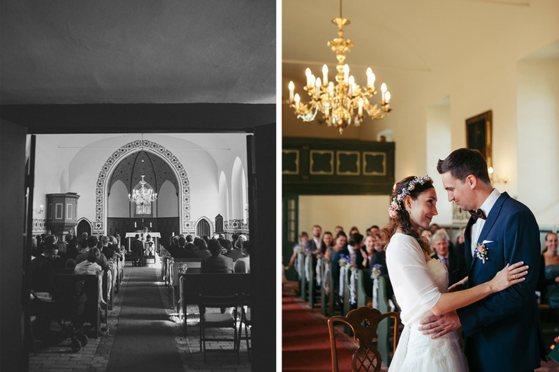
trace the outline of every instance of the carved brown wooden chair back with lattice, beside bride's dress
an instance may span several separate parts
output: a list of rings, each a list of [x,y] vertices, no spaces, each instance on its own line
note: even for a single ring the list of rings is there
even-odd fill
[[[379,323],[386,319],[394,319],[394,350],[397,341],[398,313],[381,313],[376,308],[361,306],[355,310],[349,311],[346,316],[333,316],[328,319],[328,332],[330,332],[330,345],[332,352],[332,371],[338,371],[337,365],[337,349],[335,341],[334,323],[343,322],[351,327],[354,338],[358,340],[358,348],[353,352],[351,357],[351,371],[375,371],[381,370],[382,358],[373,343],[373,339],[377,337],[377,327]],[[388,320],[387,320],[388,321]],[[342,368],[346,370],[346,368]]]

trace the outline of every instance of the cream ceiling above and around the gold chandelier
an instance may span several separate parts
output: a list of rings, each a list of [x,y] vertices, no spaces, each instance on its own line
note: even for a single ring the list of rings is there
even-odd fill
[[[299,90],[306,67],[317,76],[324,63],[334,70],[335,54],[326,42],[337,37],[331,20],[339,16],[339,0],[282,1],[283,75],[298,80]],[[386,70],[439,74],[504,55],[521,59],[531,34],[557,35],[559,29],[556,0],[345,0],[342,16],[351,22],[344,27],[354,43],[346,61],[358,84],[367,67],[382,82]],[[551,43],[530,41],[532,51]],[[545,57],[559,57],[559,48]]]

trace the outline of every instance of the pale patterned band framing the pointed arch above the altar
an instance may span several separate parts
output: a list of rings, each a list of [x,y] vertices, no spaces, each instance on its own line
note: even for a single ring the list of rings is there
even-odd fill
[[[117,165],[123,161],[126,156],[138,151],[146,151],[159,156],[166,161],[175,172],[175,176],[179,180],[179,195],[182,195],[182,207],[179,214],[180,230],[182,232],[192,232],[194,230],[194,225],[192,221],[190,221],[190,186],[187,171],[171,151],[149,140],[143,140],[143,142],[141,140],[136,140],[125,144],[112,153],[112,156],[107,159],[101,168],[96,185],[96,209],[95,221],[92,226],[93,231],[96,233],[104,233],[106,230],[106,212],[108,207],[107,188],[112,172],[115,171]]]

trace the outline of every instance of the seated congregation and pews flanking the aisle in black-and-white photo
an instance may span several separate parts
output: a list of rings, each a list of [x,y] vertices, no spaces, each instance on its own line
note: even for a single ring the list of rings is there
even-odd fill
[[[150,245],[148,235],[145,241],[131,241],[128,250],[111,236],[97,239],[85,234],[77,239],[66,235],[64,241],[58,241],[56,235],[34,238],[30,264],[34,352],[40,355],[43,348],[64,343],[68,329],[74,352],[87,345],[88,336],[106,335],[103,330],[116,323],[110,318],[119,317],[120,311],[110,311],[115,298],[122,301],[115,293],[124,280],[133,277],[133,270],[152,272],[161,265],[160,279],[169,289],[167,304],[179,314],[173,318],[184,321],[184,338],[199,343],[204,363],[206,352],[219,341],[227,341],[231,347],[220,345],[217,350],[229,348],[239,362],[241,341],[250,355],[250,242],[245,235],[233,238],[234,242],[223,235],[213,239],[177,235],[166,249]],[[155,264],[146,263],[150,254],[157,256]],[[129,282],[125,288],[130,292],[134,285]],[[157,283],[153,285],[157,288]],[[208,331],[212,328],[219,329],[218,336]],[[206,341],[212,342],[208,348]]]

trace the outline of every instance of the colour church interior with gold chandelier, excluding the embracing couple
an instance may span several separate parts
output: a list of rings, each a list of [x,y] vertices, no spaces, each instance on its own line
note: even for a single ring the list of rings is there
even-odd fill
[[[282,297],[284,370],[332,369],[326,321],[333,314],[319,285],[325,279],[318,265],[301,271],[297,259],[291,261],[293,247],[304,247],[301,233],[311,241],[319,225],[335,242],[340,226],[348,239],[354,228],[367,237],[372,226],[389,223],[395,182],[428,174],[438,198],[433,224],[445,228],[456,244],[470,215],[447,201],[436,168],[455,149],[484,150],[493,186],[530,208],[541,249],[546,248],[546,235],[559,228],[558,11],[556,1],[530,0],[282,1],[282,260],[289,268]],[[341,37],[352,46],[341,64],[335,18],[349,20]],[[356,126],[354,103],[355,117],[349,125],[344,119],[340,134],[333,121],[335,101],[328,95],[342,101],[340,73],[349,84],[353,75],[354,89],[365,92],[368,68],[377,91],[368,96],[370,105],[386,107],[381,105],[384,82],[391,111],[373,119],[363,107]],[[316,102],[330,106],[315,111]],[[474,130],[476,121],[481,131]],[[550,352],[557,309],[543,308],[541,316]],[[349,346],[339,343],[338,353],[343,349],[348,361],[347,350],[355,343],[351,337],[345,341]],[[349,370],[341,355],[338,362],[340,370]],[[550,361],[541,370],[558,366]]]

